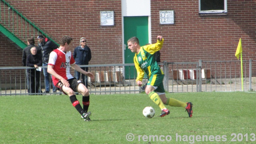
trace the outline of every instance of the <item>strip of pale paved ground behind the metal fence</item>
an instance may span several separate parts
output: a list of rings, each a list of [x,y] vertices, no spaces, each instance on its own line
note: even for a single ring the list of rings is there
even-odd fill
[[[193,82],[194,83],[194,82]],[[126,82],[125,86],[121,83],[118,83],[116,85],[111,84],[111,86],[108,84],[104,86],[89,86],[89,92],[90,94],[136,94],[140,92],[140,88],[138,86],[134,86],[134,82]],[[184,82],[170,82],[169,81],[169,87],[168,92],[197,92],[197,86],[196,84],[184,84]],[[249,91],[249,83],[244,83],[244,91]],[[252,83],[252,90],[256,90],[256,83]],[[44,92],[44,89],[42,89]],[[232,91],[242,91],[239,82],[233,83],[227,83],[227,84],[212,84],[212,83],[204,83],[202,84],[202,92],[232,92]],[[26,90],[1,90],[0,95],[25,95],[28,94]],[[44,93],[40,93],[44,94]],[[57,93],[49,93],[50,94],[61,94],[61,92],[57,91]]]

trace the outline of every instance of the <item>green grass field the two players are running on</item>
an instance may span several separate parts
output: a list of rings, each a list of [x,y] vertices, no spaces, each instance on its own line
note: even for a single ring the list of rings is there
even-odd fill
[[[172,93],[167,97],[192,102],[193,117],[188,118],[184,108],[167,106],[171,114],[161,118],[160,108],[146,94],[90,95],[91,122],[84,122],[63,94],[0,96],[0,143],[204,144],[206,137],[210,144],[255,143],[255,92]],[[82,96],[77,98],[82,103]],[[153,118],[143,116],[146,106],[156,110]]]

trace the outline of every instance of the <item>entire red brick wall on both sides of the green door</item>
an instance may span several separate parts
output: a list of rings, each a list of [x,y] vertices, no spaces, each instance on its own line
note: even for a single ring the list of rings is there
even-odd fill
[[[80,37],[86,37],[92,49],[90,64],[122,63],[120,0],[8,1],[57,40],[72,36],[73,49]],[[114,10],[114,26],[100,26],[101,10]],[[175,24],[160,25],[159,10],[174,10]],[[226,16],[199,16],[198,0],[151,0],[151,20],[152,42],[157,35],[165,39],[161,61],[237,60],[234,54],[240,38],[243,60],[256,60],[255,0],[228,0]],[[0,40],[1,51],[14,52],[12,58],[1,52],[0,60],[21,66],[22,53],[1,36]]]

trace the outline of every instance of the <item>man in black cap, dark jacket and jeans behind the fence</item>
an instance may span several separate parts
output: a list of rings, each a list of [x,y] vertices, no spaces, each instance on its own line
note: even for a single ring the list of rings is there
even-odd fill
[[[42,66],[47,66],[48,61],[49,61],[49,56],[50,53],[58,48],[58,45],[54,44],[51,42],[48,38],[44,38],[42,35],[38,35],[38,47],[40,48],[42,52]],[[45,84],[45,92],[44,93],[49,93],[50,92],[50,74],[47,72],[47,68],[43,68],[44,72],[44,84]],[[52,83],[52,90],[53,92],[56,92],[55,86]]]

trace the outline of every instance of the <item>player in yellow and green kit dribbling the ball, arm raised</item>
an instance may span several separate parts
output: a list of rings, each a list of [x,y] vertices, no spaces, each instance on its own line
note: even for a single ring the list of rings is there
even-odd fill
[[[138,86],[142,86],[142,79],[144,73],[146,72],[148,76],[148,83],[145,89],[148,97],[157,104],[162,113],[161,117],[170,114],[170,111],[164,106],[180,106],[186,109],[188,116],[192,117],[192,106],[191,102],[180,102],[174,98],[166,98],[165,90],[163,85],[164,72],[158,66],[154,53],[162,48],[164,39],[162,36],[157,36],[157,42],[155,44],[149,44],[146,46],[140,46],[138,38],[130,38],[128,43],[128,48],[135,53],[134,64],[138,73],[136,82]]]

